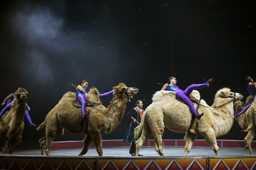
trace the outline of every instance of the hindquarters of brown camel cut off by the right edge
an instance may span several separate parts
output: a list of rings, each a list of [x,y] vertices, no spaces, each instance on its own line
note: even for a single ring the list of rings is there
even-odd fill
[[[256,134],[256,100],[253,100],[252,105],[244,114],[248,123],[248,128],[246,130],[243,130],[244,132],[248,132],[248,134],[244,138],[244,141],[249,149],[250,154],[252,155],[253,152],[251,143]]]

